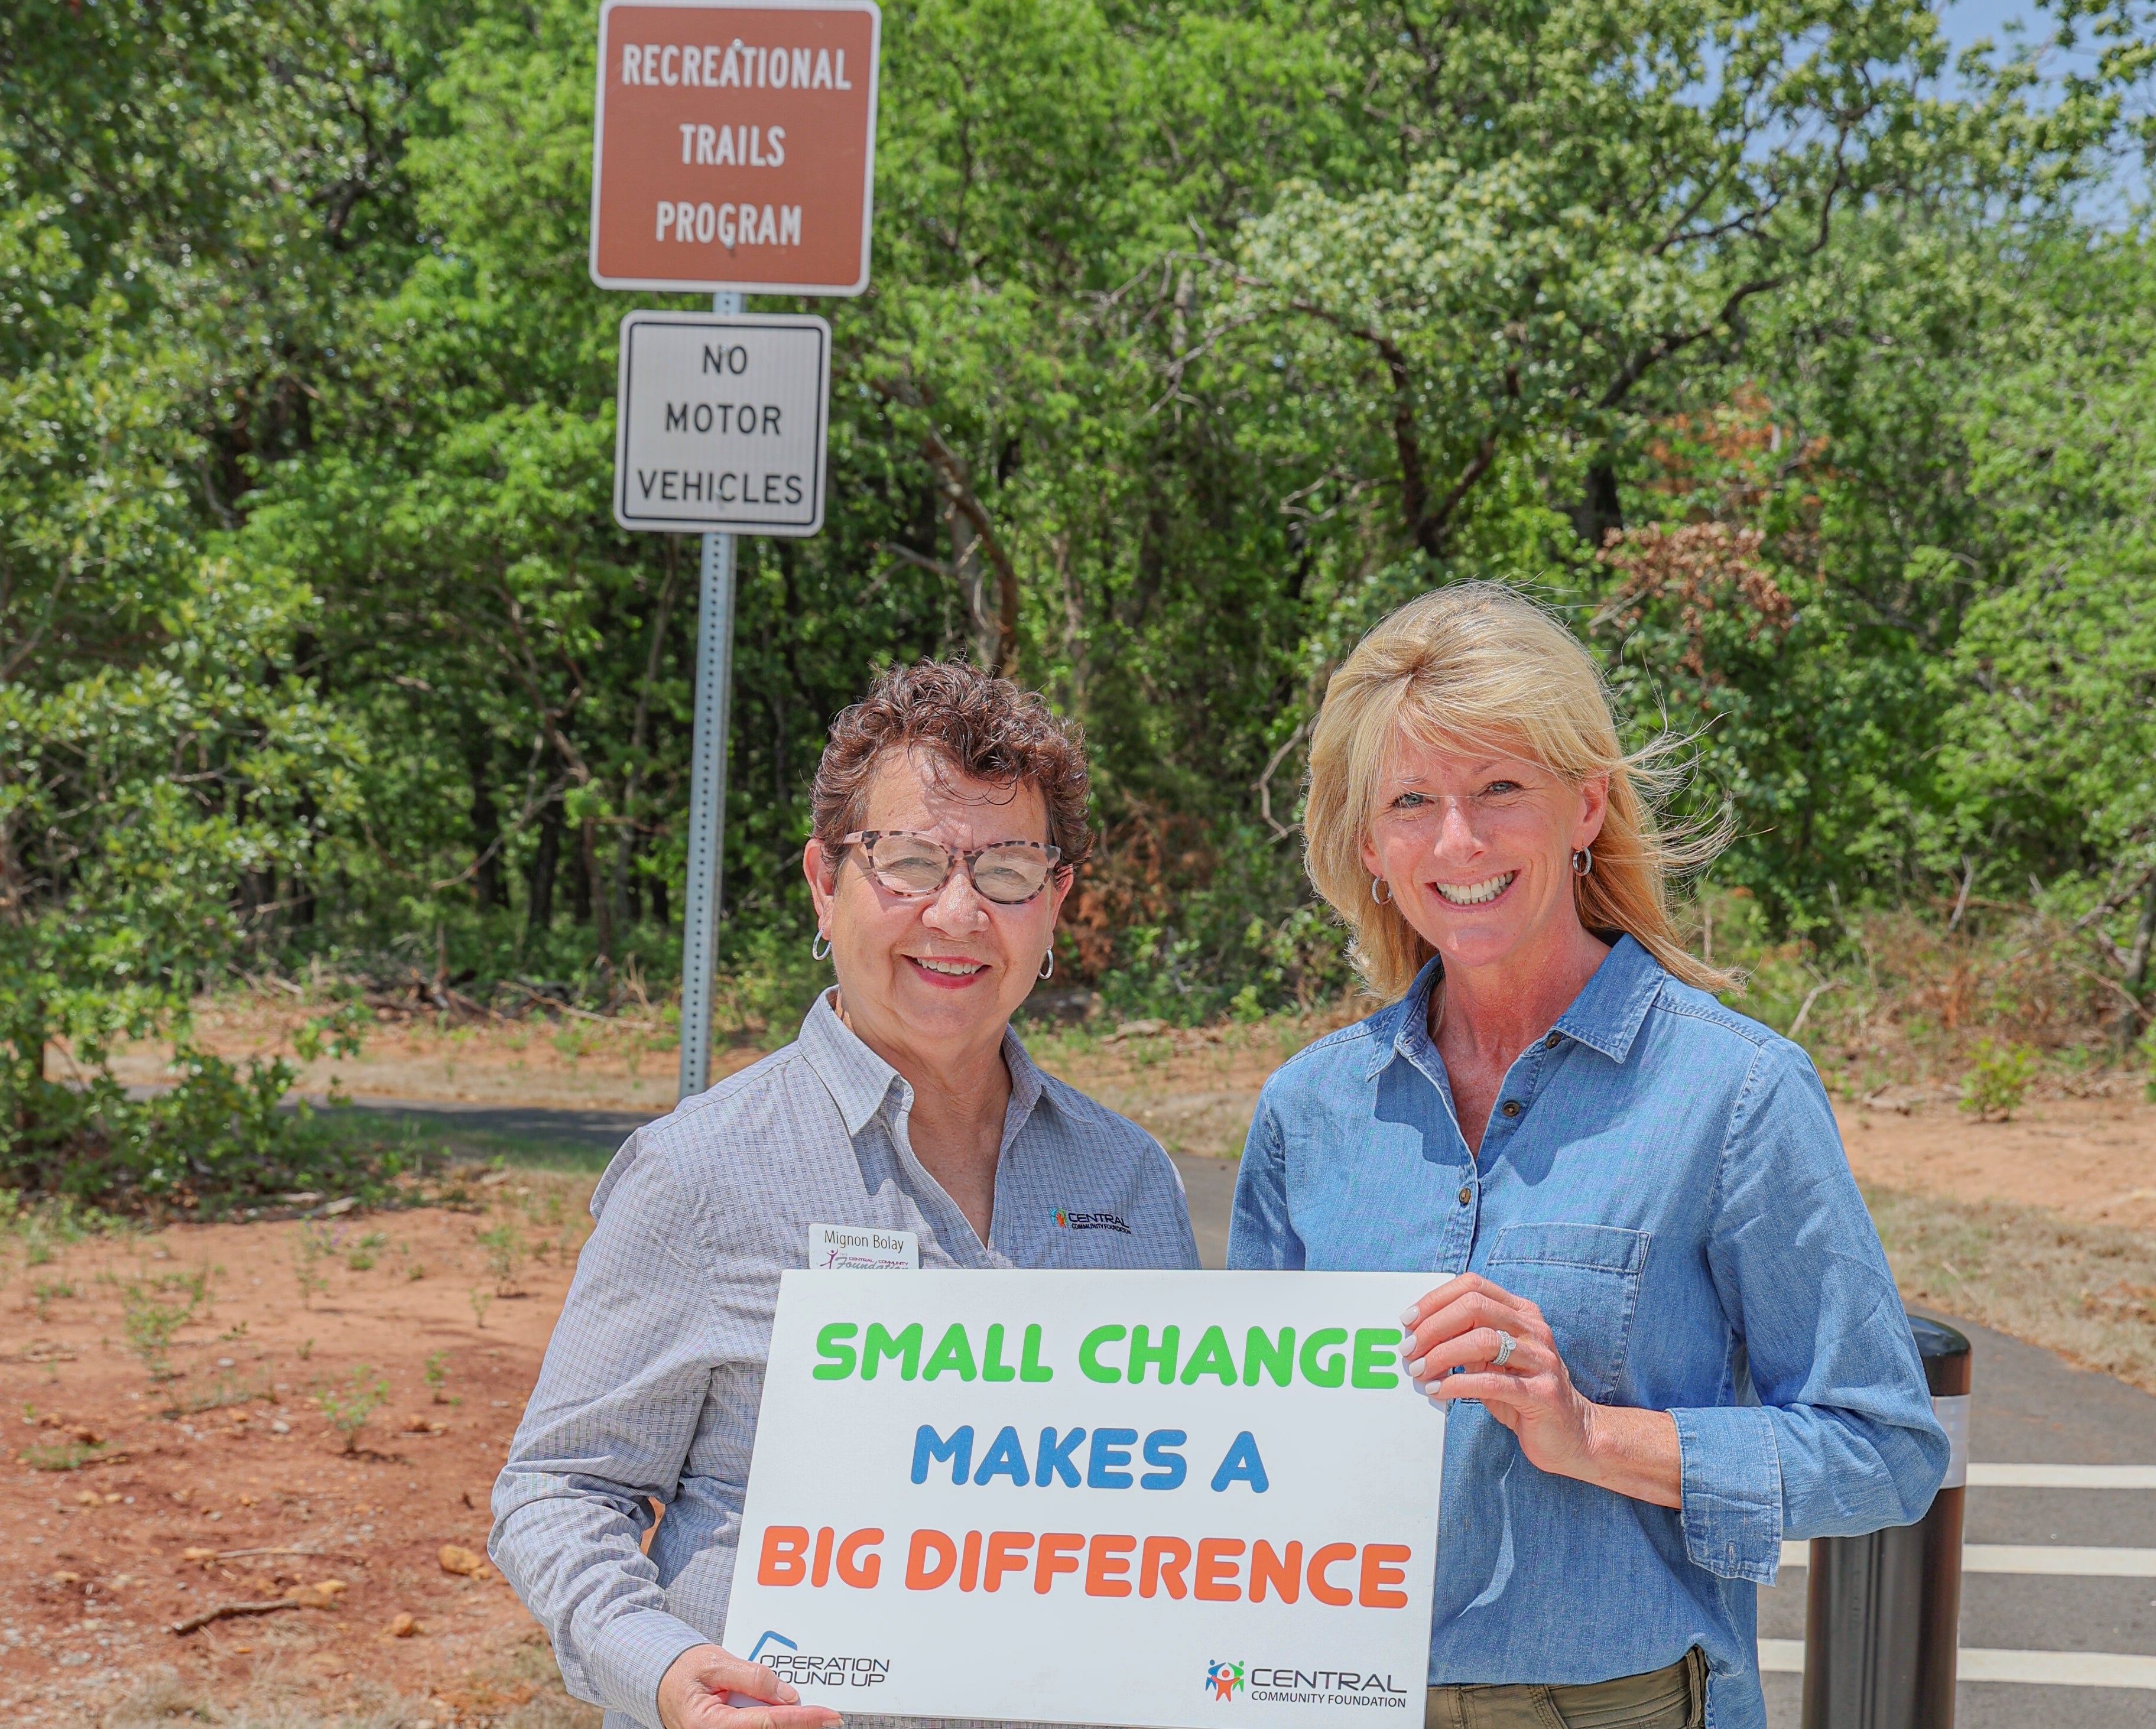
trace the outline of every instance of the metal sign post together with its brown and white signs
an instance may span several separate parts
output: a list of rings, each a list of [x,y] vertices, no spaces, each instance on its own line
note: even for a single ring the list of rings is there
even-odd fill
[[[875,0],[604,0],[591,280],[699,289],[701,313],[621,323],[614,522],[703,528],[681,1097],[711,1080],[733,694],[735,535],[824,526],[830,326],[748,317],[744,291],[869,287]]]

